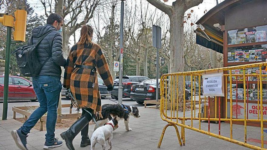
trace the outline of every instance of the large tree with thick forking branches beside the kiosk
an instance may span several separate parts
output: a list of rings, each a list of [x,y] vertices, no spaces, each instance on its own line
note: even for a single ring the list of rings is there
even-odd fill
[[[184,71],[184,13],[191,7],[197,6],[203,0],[176,0],[172,5],[167,5],[160,0],[147,0],[162,12],[165,12],[170,18],[170,72]],[[167,2],[167,0],[164,0]],[[179,79],[182,81],[182,78]],[[179,82],[179,103],[183,102],[182,87]]]

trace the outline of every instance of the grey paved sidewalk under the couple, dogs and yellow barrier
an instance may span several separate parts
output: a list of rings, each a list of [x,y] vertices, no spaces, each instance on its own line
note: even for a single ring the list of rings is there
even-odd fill
[[[230,142],[226,142],[221,139],[217,139],[214,137],[210,137],[208,135],[204,135],[192,130],[185,130],[185,146],[181,146],[178,143],[177,135],[175,129],[173,127],[168,127],[161,148],[158,149],[157,145],[161,136],[162,129],[167,124],[162,121],[160,117],[160,113],[158,109],[152,108],[144,108],[139,107],[139,112],[141,117],[134,118],[130,117],[130,128],[132,131],[127,132],[124,129],[123,121],[119,122],[119,128],[113,132],[113,140],[112,140],[112,149],[113,150],[245,150],[249,148],[245,148],[243,146],[239,146]],[[190,114],[191,111],[187,112],[187,115]],[[186,124],[189,125],[191,121],[187,121]],[[19,149],[11,136],[11,130],[18,129],[22,125],[21,122],[18,122],[14,119],[1,120],[0,121],[0,150],[17,150]],[[201,127],[204,129],[208,125],[208,122],[202,122]],[[198,127],[198,121],[194,121],[194,127]],[[89,135],[92,135],[93,125],[89,127]],[[178,127],[180,135],[181,128]],[[258,131],[260,128],[256,127],[248,127],[248,129],[252,129],[252,132],[249,132],[249,136],[255,136],[255,138],[260,139],[260,134],[258,135]],[[57,129],[55,134],[56,138],[62,140],[60,137],[60,133],[66,131],[67,128]],[[221,133],[229,136],[230,125],[224,122],[221,123]],[[233,135],[234,139],[239,139],[242,141],[244,139],[243,131],[244,126],[242,125],[234,125]],[[218,124],[211,123],[211,132],[218,132]],[[27,138],[28,148],[29,150],[43,149],[43,145],[45,142],[45,134],[46,131],[39,132],[36,129],[32,129],[31,133]],[[85,148],[81,148],[80,145],[81,135],[77,135],[73,140],[73,145],[76,150],[90,150],[90,146]],[[254,145],[259,145],[259,143],[251,143]],[[106,149],[109,148],[106,143]],[[63,145],[58,148],[53,148],[53,150],[63,150],[67,149],[65,141],[63,141]],[[99,144],[96,144],[96,149],[101,149]]]

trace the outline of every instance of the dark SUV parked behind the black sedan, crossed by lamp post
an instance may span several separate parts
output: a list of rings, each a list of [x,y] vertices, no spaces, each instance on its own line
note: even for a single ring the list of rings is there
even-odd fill
[[[127,98],[130,97],[131,87],[132,85],[136,85],[144,80],[149,78],[144,76],[122,76],[122,97]],[[119,77],[116,77],[114,80],[113,90],[110,91],[111,98],[118,99],[118,89],[119,89]]]

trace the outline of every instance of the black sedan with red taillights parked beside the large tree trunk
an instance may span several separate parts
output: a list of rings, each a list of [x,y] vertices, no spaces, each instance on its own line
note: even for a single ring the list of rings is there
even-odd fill
[[[160,80],[159,80],[160,82]],[[165,84],[165,83],[164,83]],[[138,104],[143,104],[145,100],[156,99],[157,79],[149,79],[133,85],[131,88],[130,98],[136,101]],[[158,84],[160,90],[160,83]],[[165,90],[165,86],[164,86]],[[191,99],[191,91],[185,89],[185,99]],[[158,92],[158,98],[160,99],[160,91]]]

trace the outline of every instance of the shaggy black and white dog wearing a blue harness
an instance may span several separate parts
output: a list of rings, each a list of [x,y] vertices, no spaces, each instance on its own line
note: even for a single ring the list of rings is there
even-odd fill
[[[105,125],[109,120],[117,116],[118,121],[124,119],[124,125],[127,131],[132,131],[132,129],[129,127],[130,115],[134,116],[135,118],[140,117],[137,107],[123,104],[104,104],[102,105],[101,113],[103,118],[96,121],[99,126]],[[95,125],[94,131],[96,130],[96,128],[97,126]],[[114,130],[115,129],[116,128],[114,128]]]

